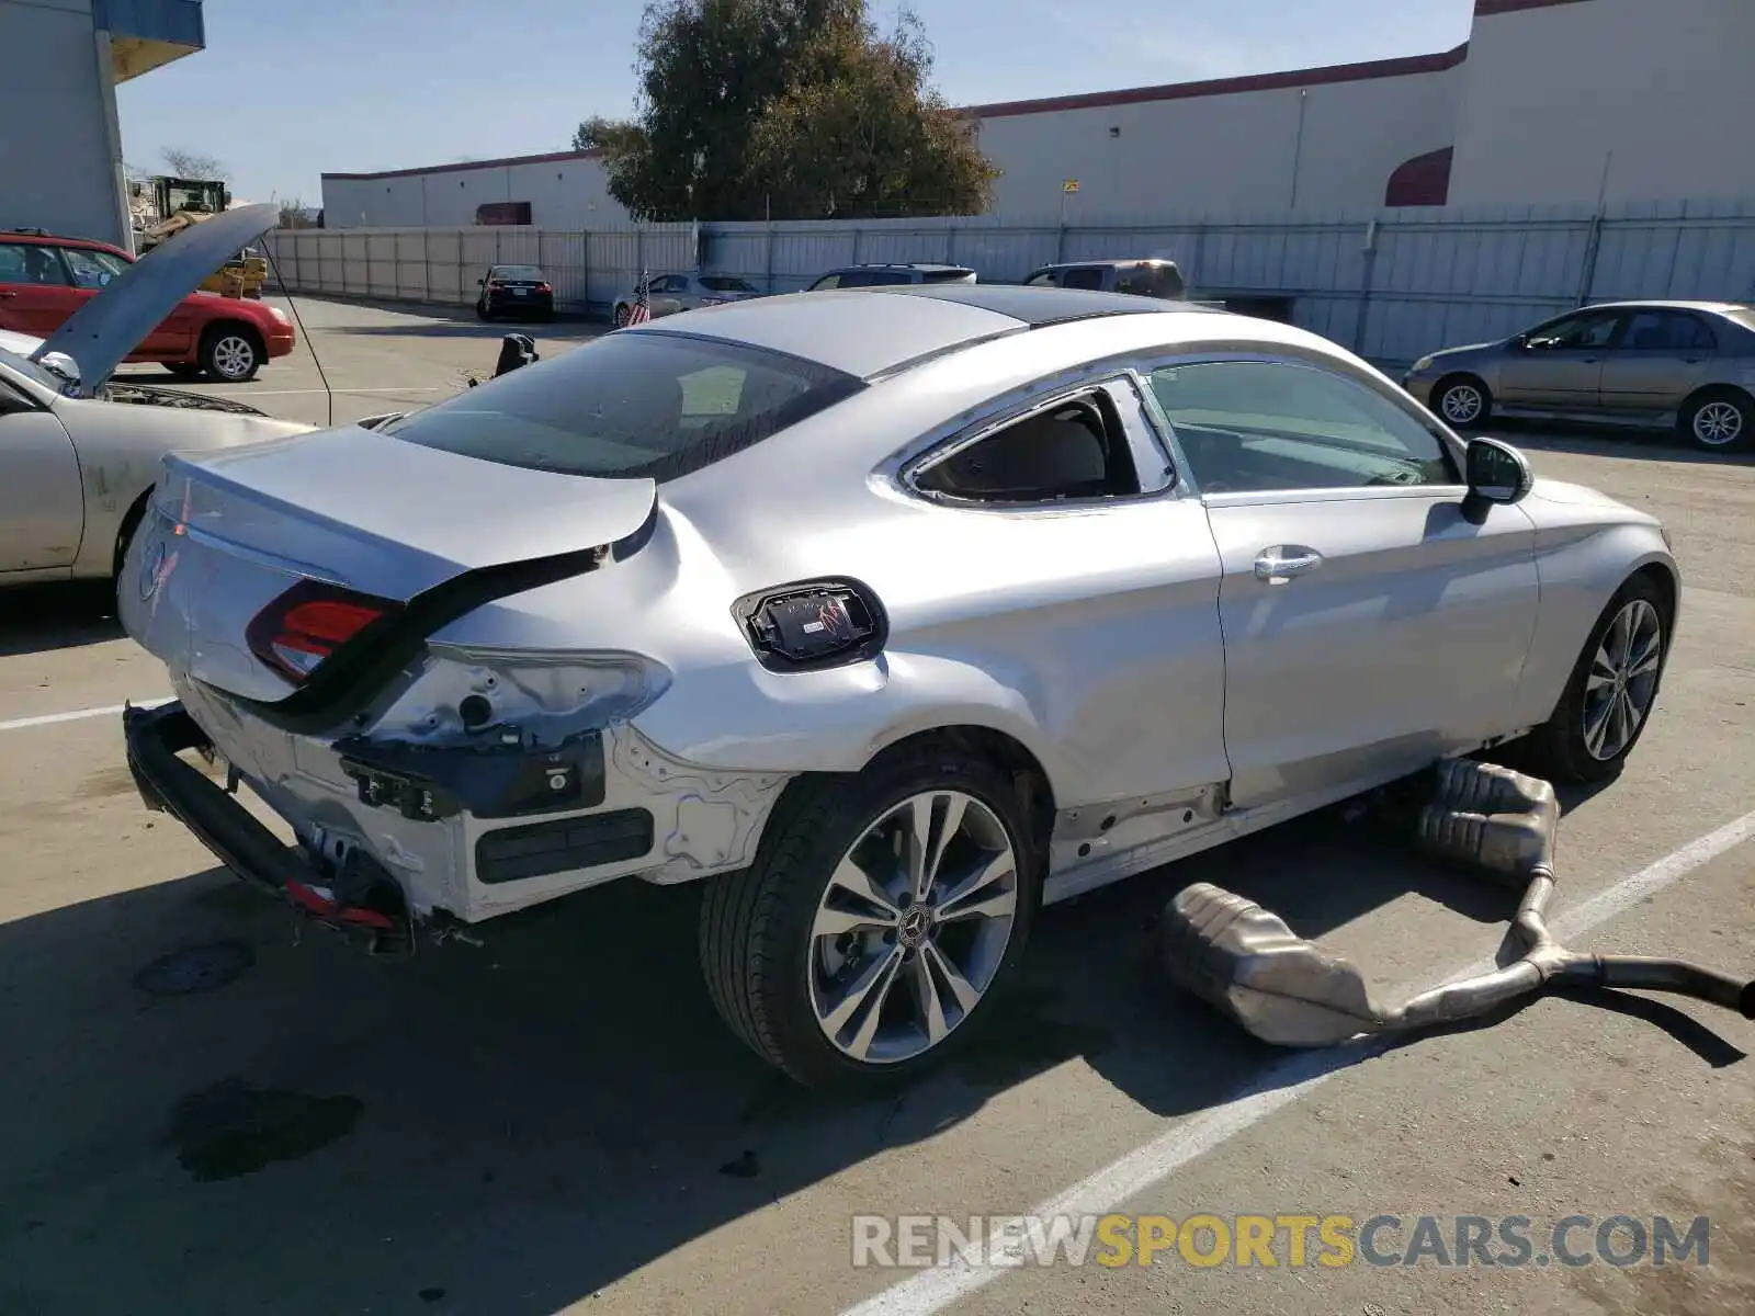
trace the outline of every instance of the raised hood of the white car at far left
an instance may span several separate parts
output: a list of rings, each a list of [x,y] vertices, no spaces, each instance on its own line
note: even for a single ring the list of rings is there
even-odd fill
[[[200,288],[202,279],[274,228],[276,219],[276,209],[261,204],[191,225],[104,284],[104,291],[79,307],[30,360],[67,353],[79,363],[77,397],[95,397],[123,358]]]

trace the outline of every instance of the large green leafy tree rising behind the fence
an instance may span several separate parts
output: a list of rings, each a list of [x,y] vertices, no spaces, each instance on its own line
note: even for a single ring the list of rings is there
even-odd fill
[[[637,72],[637,118],[588,119],[574,149],[604,153],[642,219],[972,214],[992,197],[907,12],[886,37],[863,0],[655,0]]]

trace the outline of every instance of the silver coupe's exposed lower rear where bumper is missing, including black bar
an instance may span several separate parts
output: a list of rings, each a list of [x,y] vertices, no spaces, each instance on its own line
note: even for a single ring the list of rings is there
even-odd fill
[[[256,888],[372,949],[400,949],[620,877],[670,884],[748,867],[783,774],[714,772],[628,723],[553,749],[297,735],[193,681],[126,709],[149,809]],[[223,760],[225,786],[179,755]],[[249,786],[286,844],[237,798]]]

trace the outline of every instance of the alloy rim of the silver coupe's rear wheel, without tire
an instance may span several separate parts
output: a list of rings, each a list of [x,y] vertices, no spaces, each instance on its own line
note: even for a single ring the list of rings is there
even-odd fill
[[[811,921],[811,1009],[867,1065],[911,1060],[960,1026],[999,974],[1018,918],[1018,856],[974,795],[886,809],[828,879]]]

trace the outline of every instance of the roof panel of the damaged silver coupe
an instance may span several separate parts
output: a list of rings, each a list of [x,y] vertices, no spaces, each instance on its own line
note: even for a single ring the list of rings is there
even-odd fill
[[[893,284],[730,302],[618,332],[744,342],[872,379],[1006,333],[1104,316],[1165,314],[1167,305],[1071,288]],[[1178,314],[1227,314],[1176,307]]]

